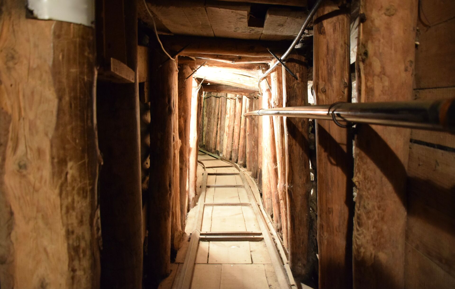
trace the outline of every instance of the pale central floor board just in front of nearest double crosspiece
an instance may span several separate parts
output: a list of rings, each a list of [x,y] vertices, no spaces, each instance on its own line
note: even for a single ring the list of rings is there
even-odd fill
[[[251,264],[250,242],[210,242],[209,264]]]

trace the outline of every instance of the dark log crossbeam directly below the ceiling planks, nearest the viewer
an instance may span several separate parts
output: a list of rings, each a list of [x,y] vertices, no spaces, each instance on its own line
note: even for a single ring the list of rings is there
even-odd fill
[[[179,51],[184,46],[185,53],[224,54],[236,56],[268,56],[267,47],[276,54],[281,54],[288,48],[290,41],[258,41],[245,39],[170,36],[162,35],[160,39],[165,47]]]

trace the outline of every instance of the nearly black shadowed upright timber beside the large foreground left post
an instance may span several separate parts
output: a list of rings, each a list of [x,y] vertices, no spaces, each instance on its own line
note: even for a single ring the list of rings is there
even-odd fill
[[[108,33],[106,40],[123,43],[126,53],[124,63],[136,72],[136,2],[125,2],[121,7],[125,15],[121,21],[124,21],[124,29],[130,33],[124,36],[121,33]],[[106,21],[115,22],[109,18],[114,15],[107,15]],[[108,39],[107,35],[114,38]],[[136,288],[142,285],[143,258],[137,75],[135,83],[131,84],[98,81],[96,96],[99,147],[103,156],[99,180],[101,287]]]

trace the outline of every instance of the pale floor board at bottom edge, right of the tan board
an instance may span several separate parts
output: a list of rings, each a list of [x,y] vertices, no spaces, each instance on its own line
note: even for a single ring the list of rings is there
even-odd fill
[[[222,289],[268,288],[263,264],[223,264]]]

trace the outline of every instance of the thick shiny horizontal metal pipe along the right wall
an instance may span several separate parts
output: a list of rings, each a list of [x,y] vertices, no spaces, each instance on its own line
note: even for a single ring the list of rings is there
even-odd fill
[[[335,103],[260,109],[244,116],[306,117],[335,122],[455,132],[455,98],[439,101]]]

